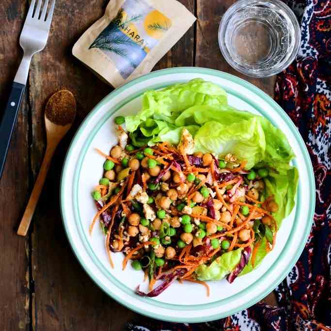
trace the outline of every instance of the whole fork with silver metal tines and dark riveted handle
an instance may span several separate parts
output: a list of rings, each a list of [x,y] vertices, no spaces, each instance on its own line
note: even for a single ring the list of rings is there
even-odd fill
[[[48,0],[44,0],[43,9],[41,11],[42,2],[42,0],[37,0],[37,3],[36,0],[31,1],[28,15],[19,38],[19,44],[23,48],[24,56],[17,70],[12,91],[0,123],[0,178],[15,127],[18,110],[21,106],[25,85],[28,80],[32,56],[44,49],[48,39],[55,0],[52,0],[50,3],[48,13]]]

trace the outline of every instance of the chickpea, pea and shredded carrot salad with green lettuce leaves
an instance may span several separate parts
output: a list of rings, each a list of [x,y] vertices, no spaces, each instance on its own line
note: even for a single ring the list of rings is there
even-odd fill
[[[123,269],[143,270],[149,292],[138,295],[175,280],[209,295],[206,281],[232,283],[262,262],[298,186],[280,129],[202,79],[146,92],[142,110],[115,123],[118,144],[97,150],[106,160],[90,233],[99,220],[111,267],[123,252]]]

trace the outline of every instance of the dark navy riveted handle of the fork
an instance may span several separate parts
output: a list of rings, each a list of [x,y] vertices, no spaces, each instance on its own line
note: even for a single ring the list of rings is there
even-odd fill
[[[7,106],[0,123],[0,178],[6,161],[8,147],[15,127],[18,110],[22,103],[25,85],[14,81]]]

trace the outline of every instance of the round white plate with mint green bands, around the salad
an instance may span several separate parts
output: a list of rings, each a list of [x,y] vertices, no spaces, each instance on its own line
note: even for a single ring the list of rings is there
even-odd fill
[[[202,78],[220,85],[229,104],[268,118],[288,138],[299,169],[297,203],[282,223],[273,251],[251,273],[233,284],[222,280],[209,282],[210,296],[200,284],[175,282],[157,298],[135,294],[138,284],[146,291],[143,272],[130,264],[122,271],[123,254],[113,254],[111,269],[105,250],[105,236],[99,226],[89,235],[89,225],[96,213],[91,197],[103,173],[104,158],[98,148],[109,153],[117,142],[114,117],[134,114],[141,109],[141,96],[150,89]],[[135,79],[104,98],[87,116],[76,133],[63,166],[61,212],[66,235],[80,264],[107,294],[142,315],[173,322],[202,322],[222,318],[252,306],[268,295],[288,274],[303,250],[313,221],[315,181],[312,164],[299,131],[276,102],[252,84],[235,76],[203,68],[173,68],[156,71]]]

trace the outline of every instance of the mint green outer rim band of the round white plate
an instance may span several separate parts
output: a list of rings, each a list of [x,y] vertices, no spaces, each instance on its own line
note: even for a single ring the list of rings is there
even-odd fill
[[[299,247],[298,247],[297,252],[295,254],[295,258],[288,264],[288,267],[284,270],[284,272],[281,275],[279,275],[279,277],[277,278],[277,280],[275,282],[273,282],[272,284],[269,284],[268,288],[263,293],[261,293],[259,296],[255,296],[251,300],[249,300],[249,301],[241,304],[240,306],[236,307],[236,309],[229,310],[226,313],[216,314],[216,315],[209,315],[207,317],[190,317],[190,318],[181,318],[181,317],[173,318],[172,317],[172,318],[170,318],[167,315],[160,315],[160,314],[156,314],[156,313],[151,313],[151,312],[149,312],[147,310],[142,310],[142,309],[140,309],[137,306],[131,305],[129,302],[122,302],[122,301],[119,300],[119,298],[117,297],[117,295],[114,292],[110,294],[103,284],[99,284],[98,283],[98,281],[93,276],[91,270],[89,270],[89,268],[87,268],[87,266],[85,265],[83,259],[80,256],[79,252],[77,251],[77,249],[75,247],[75,240],[70,235],[69,230],[67,228],[67,225],[66,225],[67,220],[66,220],[65,212],[64,212],[64,196],[63,196],[64,195],[64,190],[63,190],[63,188],[64,188],[64,179],[65,179],[65,174],[66,174],[66,171],[67,171],[68,160],[70,159],[70,156],[72,154],[72,151],[75,148],[76,142],[80,139],[80,136],[83,133],[84,128],[88,125],[88,123],[91,120],[91,118],[95,115],[95,113],[102,106],[104,106],[105,104],[107,104],[116,95],[121,94],[127,88],[132,87],[132,86],[134,86],[134,85],[136,85],[138,83],[141,83],[141,82],[143,82],[145,80],[157,78],[157,77],[160,77],[160,76],[166,76],[166,75],[173,75],[173,74],[192,74],[192,73],[193,74],[216,76],[216,77],[219,77],[221,79],[227,79],[229,81],[235,82],[235,83],[237,83],[237,84],[239,84],[239,85],[241,85],[241,86],[249,89],[250,91],[252,91],[252,93],[260,96],[265,102],[267,102],[278,113],[278,115],[281,116],[281,118],[286,122],[287,126],[291,129],[293,135],[296,137],[297,142],[299,142],[300,149],[302,151],[302,154],[304,155],[305,165],[308,168],[309,187],[310,187],[310,200],[311,200],[312,204],[309,206],[309,212],[308,212],[308,216],[307,216],[307,223],[306,223],[306,227],[305,227],[305,230],[304,230],[304,238],[305,238],[305,240],[302,241],[299,244]],[[183,79],[183,80],[186,80],[186,79]],[[131,97],[131,99],[132,99],[132,97]],[[248,102],[248,103],[251,103],[248,100],[245,100],[245,101]],[[126,102],[128,102],[128,101],[126,101]],[[115,112],[115,111],[113,111],[113,112]],[[85,145],[84,145],[84,147],[85,147]],[[84,149],[84,147],[82,149]],[[79,159],[83,159],[83,158],[81,158],[81,156],[79,156]],[[80,168],[81,168],[81,164],[79,165],[79,169]],[[80,173],[80,171],[79,171],[79,173]],[[78,180],[78,178],[77,178],[77,180]],[[145,76],[142,76],[140,78],[137,78],[137,79],[132,80],[131,82],[126,83],[125,85],[121,86],[120,88],[116,89],[115,91],[113,91],[112,93],[110,93],[109,95],[107,95],[102,101],[100,101],[95,106],[95,108],[90,112],[90,114],[86,117],[86,119],[83,121],[83,123],[80,125],[77,133],[75,134],[75,136],[74,136],[74,138],[73,138],[73,140],[72,140],[72,142],[71,142],[71,144],[69,146],[67,155],[65,157],[64,165],[63,165],[63,172],[62,172],[61,184],[60,184],[60,192],[61,192],[60,193],[61,215],[62,215],[62,219],[63,219],[63,226],[64,226],[64,230],[65,230],[66,236],[68,237],[68,240],[69,240],[69,243],[71,245],[71,248],[72,248],[74,254],[76,255],[77,259],[79,260],[79,263],[85,269],[85,271],[89,274],[89,276],[92,278],[92,280],[95,282],[95,284],[97,284],[102,290],[104,290],[113,299],[117,300],[118,302],[120,302],[121,304],[125,305],[126,307],[128,307],[129,309],[131,309],[133,311],[136,311],[136,312],[138,312],[138,313],[140,313],[142,315],[147,315],[147,316],[158,318],[158,319],[162,319],[162,320],[170,320],[170,321],[173,321],[173,322],[191,322],[191,323],[196,323],[196,322],[204,322],[206,320],[210,321],[210,320],[215,320],[215,319],[223,318],[225,316],[232,315],[232,314],[234,314],[234,313],[236,313],[236,312],[238,312],[240,310],[246,309],[247,307],[252,306],[254,303],[258,302],[259,300],[261,300],[265,296],[267,296],[268,293],[270,293],[278,284],[280,284],[282,282],[282,280],[286,277],[286,275],[289,273],[289,271],[293,268],[293,266],[295,265],[295,263],[299,259],[299,256],[300,256],[301,252],[303,251],[303,248],[305,246],[305,243],[306,243],[307,238],[308,238],[309,233],[310,233],[310,229],[311,229],[311,226],[312,226],[312,223],[313,223],[314,210],[315,210],[315,180],[314,180],[314,172],[313,172],[313,167],[312,167],[311,159],[309,157],[309,154],[308,154],[307,148],[305,146],[305,143],[303,142],[303,140],[302,140],[302,138],[301,138],[301,136],[299,134],[299,131],[297,130],[296,126],[294,126],[293,122],[287,116],[287,114],[284,112],[284,110],[273,99],[271,99],[267,94],[265,94],[263,91],[261,91],[260,89],[258,89],[254,85],[252,85],[251,83],[249,83],[249,82],[247,82],[247,81],[245,81],[243,79],[237,78],[236,76],[233,76],[233,75],[230,75],[230,74],[227,74],[227,73],[218,71],[218,70],[206,69],[206,68],[199,68],[199,67],[171,68],[171,69],[163,69],[163,70],[152,72],[150,74],[147,74]],[[300,194],[300,188],[298,189],[298,197],[299,197],[299,194]],[[74,191],[74,195],[75,195],[75,191]],[[297,204],[296,208],[297,208],[297,211],[298,211],[299,210],[298,209],[299,208],[299,205],[298,204]],[[295,223],[296,222],[294,222],[294,227],[295,227]],[[291,232],[292,231],[293,231],[293,228],[292,228]],[[294,239],[293,236],[292,237],[290,236],[289,238],[292,238],[292,240]],[[288,242],[284,246],[284,249],[280,253],[280,255],[278,256],[277,260],[281,259],[282,255],[284,254],[284,251],[286,250],[286,246],[288,246]],[[87,247],[85,247],[85,248],[87,249],[87,251],[89,251],[89,249]],[[91,257],[91,258],[92,258],[92,260],[95,260],[93,257]],[[261,276],[261,279],[263,277],[265,277],[266,274],[268,274],[268,272],[270,270],[271,270],[271,268],[264,275]],[[246,291],[246,290],[249,290],[249,288],[246,288],[243,291]],[[243,291],[241,291],[240,294],[242,294]],[[133,291],[131,291],[131,292],[132,292],[132,296],[133,295],[135,296],[134,292]],[[238,293],[236,295],[238,295]],[[234,296],[236,296],[236,295],[234,295]],[[178,308],[179,308],[179,305],[175,305],[175,304],[174,305],[171,305],[171,304],[168,304],[168,303],[161,303],[161,302],[157,302],[157,301],[155,301],[153,299],[148,299],[148,298],[141,298],[141,299],[142,300],[153,301],[153,304],[154,305],[156,303],[158,303],[158,306],[161,306],[161,307],[166,308],[166,309],[169,309],[170,307],[173,307],[173,309],[178,310]],[[222,299],[220,301],[223,301],[224,302],[224,300],[226,300],[226,299],[231,299],[231,297],[230,298]],[[220,303],[220,301],[217,301],[217,302]],[[208,306],[210,304],[213,304],[213,306],[215,306],[215,302],[212,302],[212,303],[203,304],[203,305],[188,306],[188,309],[191,310],[192,308],[193,309],[194,308],[198,308],[198,306],[200,306],[200,309],[204,309],[205,306]]]

